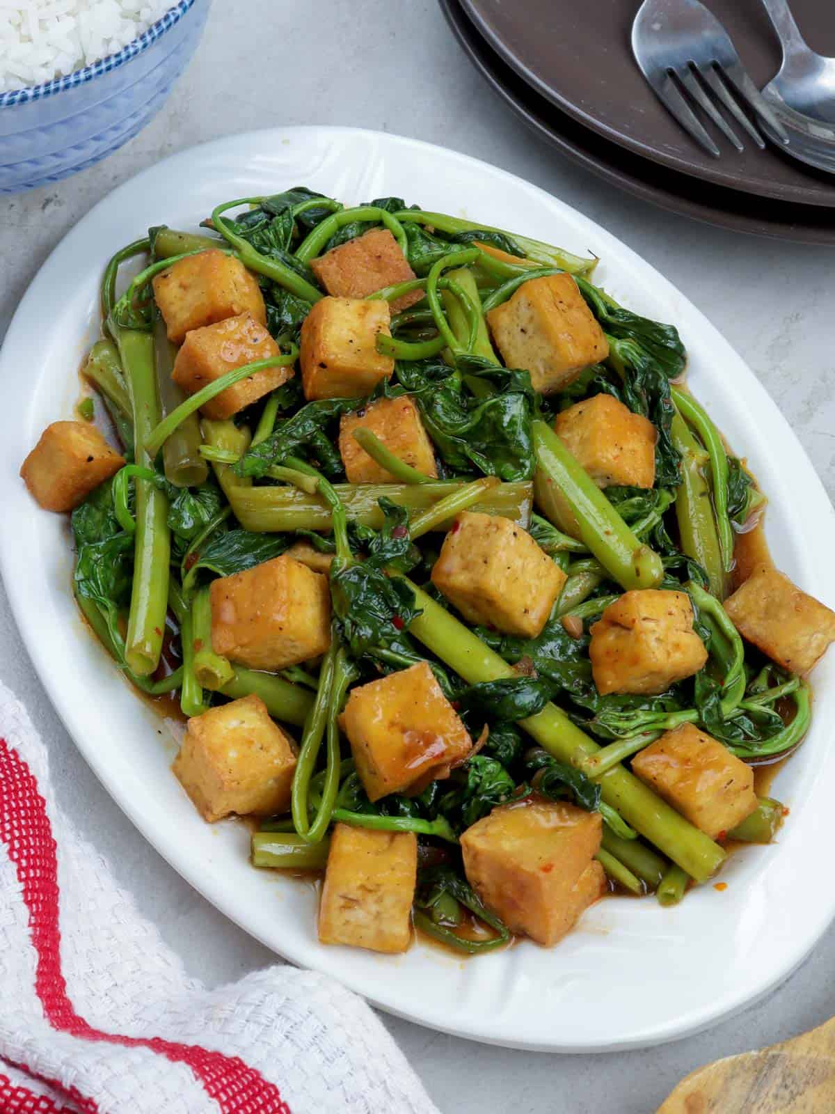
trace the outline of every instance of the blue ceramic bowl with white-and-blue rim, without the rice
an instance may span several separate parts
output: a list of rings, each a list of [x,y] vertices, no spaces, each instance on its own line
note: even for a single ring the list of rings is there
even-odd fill
[[[0,193],[66,178],[145,127],[194,53],[208,4],[179,0],[117,53],[0,94]]]

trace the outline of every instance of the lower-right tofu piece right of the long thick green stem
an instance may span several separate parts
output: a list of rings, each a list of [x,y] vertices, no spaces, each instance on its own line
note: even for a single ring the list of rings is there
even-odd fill
[[[752,768],[691,723],[666,731],[636,754],[632,772],[710,839],[757,807]]]

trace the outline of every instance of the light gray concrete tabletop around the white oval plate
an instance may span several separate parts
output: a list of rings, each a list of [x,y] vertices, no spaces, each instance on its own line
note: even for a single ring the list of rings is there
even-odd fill
[[[695,224],[576,168],[533,139],[488,90],[431,0],[215,0],[195,60],[141,135],[75,178],[0,199],[0,333],[58,240],[114,186],[204,139],[317,123],[379,128],[465,152],[600,222],[676,283],[744,354],[835,492],[832,251]],[[48,740],[60,803],[107,850],[119,881],[187,967],[219,984],[274,961],[191,890],[111,803],[49,706],[2,588],[0,631],[0,677],[27,702]],[[534,1055],[387,1024],[444,1114],[648,1114],[699,1064],[829,1017],[833,969],[829,931],[767,1001],[700,1036],[644,1052]]]

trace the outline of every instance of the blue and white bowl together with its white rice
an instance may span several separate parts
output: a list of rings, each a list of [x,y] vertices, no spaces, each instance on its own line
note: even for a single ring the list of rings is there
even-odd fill
[[[161,107],[209,0],[0,0],[0,193],[91,166]]]

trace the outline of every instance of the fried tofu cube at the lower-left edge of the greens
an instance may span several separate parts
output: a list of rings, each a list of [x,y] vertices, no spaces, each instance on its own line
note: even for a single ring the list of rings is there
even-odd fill
[[[296,747],[269,719],[261,696],[194,715],[174,772],[204,820],[286,812]]]

